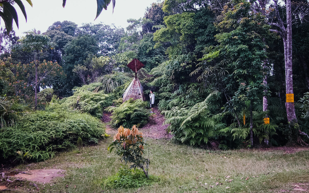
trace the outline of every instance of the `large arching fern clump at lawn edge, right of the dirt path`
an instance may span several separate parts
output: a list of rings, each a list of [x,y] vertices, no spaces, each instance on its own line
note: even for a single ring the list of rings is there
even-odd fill
[[[190,145],[207,143],[209,138],[216,139],[217,131],[225,127],[220,116],[212,116],[208,99],[193,107],[176,106],[170,111],[162,111],[167,118],[165,124],[170,124],[167,131],[171,132],[177,142]]]

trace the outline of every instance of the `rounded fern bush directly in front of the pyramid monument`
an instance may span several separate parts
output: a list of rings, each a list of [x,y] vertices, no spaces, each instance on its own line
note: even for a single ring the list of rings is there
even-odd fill
[[[112,111],[112,126],[119,127],[123,125],[128,127],[131,125],[137,125],[140,127],[148,121],[150,116],[150,110],[146,109],[148,103],[141,99],[133,100],[132,98],[125,101],[122,104],[118,104],[116,107],[108,107],[106,111]]]

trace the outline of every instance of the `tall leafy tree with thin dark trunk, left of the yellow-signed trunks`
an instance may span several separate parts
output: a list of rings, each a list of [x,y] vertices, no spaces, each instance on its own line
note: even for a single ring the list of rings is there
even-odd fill
[[[271,38],[270,26],[264,17],[251,10],[251,3],[233,0],[225,6],[216,40],[216,48],[206,50],[201,59],[200,79],[211,90],[223,92],[227,100],[227,110],[240,113],[249,109],[250,144],[253,146],[252,106],[260,102],[265,86],[263,84],[263,61],[267,45],[263,39]],[[244,128],[245,129],[245,128]],[[265,135],[265,133],[264,133]]]

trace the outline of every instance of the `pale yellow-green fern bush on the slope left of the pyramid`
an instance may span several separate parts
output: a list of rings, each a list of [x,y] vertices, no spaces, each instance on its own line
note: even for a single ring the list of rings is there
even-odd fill
[[[60,104],[100,118],[105,107],[111,106],[114,96],[104,94],[102,83],[91,83],[73,89],[73,96],[63,98]]]

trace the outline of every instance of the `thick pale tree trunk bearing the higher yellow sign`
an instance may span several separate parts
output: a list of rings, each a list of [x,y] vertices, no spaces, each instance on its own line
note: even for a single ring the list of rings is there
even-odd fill
[[[286,0],[286,40],[284,42],[285,69],[286,69],[286,94],[293,94],[293,74],[292,74],[292,14],[291,0]],[[286,103],[286,116],[290,123],[297,123],[295,107],[293,103]]]

